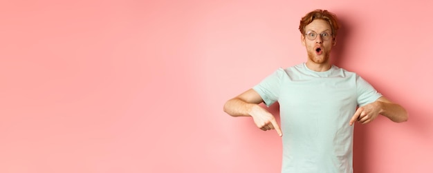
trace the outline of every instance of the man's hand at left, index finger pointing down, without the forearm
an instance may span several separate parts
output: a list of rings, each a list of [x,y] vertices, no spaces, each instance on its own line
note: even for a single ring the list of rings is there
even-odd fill
[[[283,136],[281,128],[279,128],[279,125],[275,120],[275,116],[270,114],[270,112],[264,108],[261,108],[259,105],[254,105],[250,110],[250,115],[252,116],[252,119],[254,119],[257,128],[264,131],[275,129],[280,137]]]

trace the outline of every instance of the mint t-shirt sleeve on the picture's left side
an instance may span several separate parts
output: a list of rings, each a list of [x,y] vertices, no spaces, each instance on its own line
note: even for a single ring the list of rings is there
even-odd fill
[[[279,68],[252,88],[259,93],[266,106],[269,107],[278,100],[282,77],[285,73],[284,69]]]

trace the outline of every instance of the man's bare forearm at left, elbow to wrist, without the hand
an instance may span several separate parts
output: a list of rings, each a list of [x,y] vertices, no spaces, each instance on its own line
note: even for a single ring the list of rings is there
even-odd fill
[[[230,99],[224,104],[224,112],[231,116],[251,116],[250,112],[256,103],[248,103],[239,98]]]

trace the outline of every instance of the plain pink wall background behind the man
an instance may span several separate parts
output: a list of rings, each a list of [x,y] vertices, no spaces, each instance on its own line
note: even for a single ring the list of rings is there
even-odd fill
[[[279,172],[277,133],[223,103],[306,61],[297,28],[316,8],[341,20],[335,63],[409,112],[356,124],[355,171],[431,172],[432,7],[1,1],[0,172]]]

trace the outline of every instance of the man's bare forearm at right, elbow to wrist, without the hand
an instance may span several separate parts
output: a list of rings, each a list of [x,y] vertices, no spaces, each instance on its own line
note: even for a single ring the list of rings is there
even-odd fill
[[[407,121],[407,112],[405,108],[401,107],[396,103],[388,103],[384,101],[378,101],[380,105],[380,112],[383,116],[386,116],[391,121],[401,123]]]

